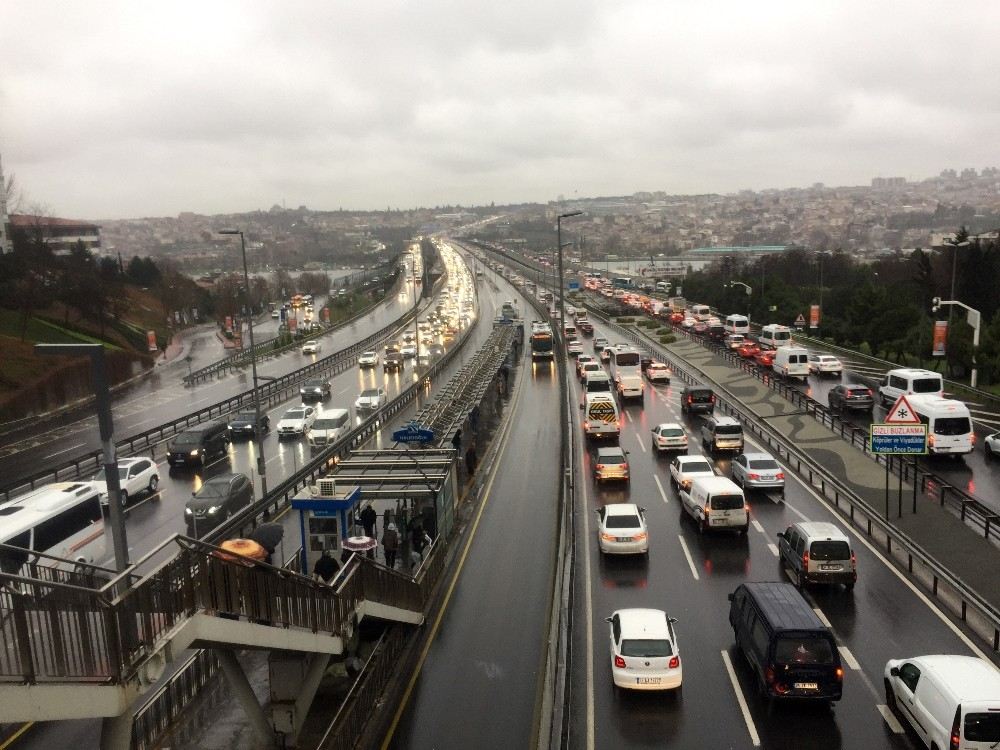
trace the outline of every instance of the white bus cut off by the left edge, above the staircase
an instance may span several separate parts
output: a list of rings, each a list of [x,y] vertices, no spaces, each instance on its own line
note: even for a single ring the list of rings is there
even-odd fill
[[[90,482],[55,482],[14,498],[0,514],[0,544],[24,552],[0,550],[0,570],[16,574],[32,553],[67,560],[42,559],[43,565],[72,569],[99,564],[105,554],[101,493]]]

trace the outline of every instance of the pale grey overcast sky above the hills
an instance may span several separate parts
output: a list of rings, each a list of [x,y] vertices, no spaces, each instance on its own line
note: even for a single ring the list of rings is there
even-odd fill
[[[1000,165],[1000,3],[0,0],[0,155],[102,219]]]

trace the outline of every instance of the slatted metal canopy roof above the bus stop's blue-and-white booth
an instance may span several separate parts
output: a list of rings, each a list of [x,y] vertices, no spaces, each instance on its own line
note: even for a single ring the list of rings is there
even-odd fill
[[[452,448],[352,451],[328,477],[357,485],[361,497],[436,497],[455,460]]]

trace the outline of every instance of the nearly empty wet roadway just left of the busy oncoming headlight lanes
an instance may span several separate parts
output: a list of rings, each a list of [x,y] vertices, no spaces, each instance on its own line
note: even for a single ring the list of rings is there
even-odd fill
[[[400,286],[397,294],[387,298],[364,318],[320,337],[323,349],[318,355],[302,354],[296,348],[259,362],[257,371],[261,376],[285,375],[365,338],[404,315],[412,307],[412,285],[406,283]],[[268,322],[271,322],[270,319]],[[274,321],[274,324],[276,325],[277,321]],[[254,332],[257,333],[256,328]],[[273,333],[274,331],[271,332]],[[267,335],[267,328],[262,328],[261,336]],[[199,330],[193,334],[193,340],[200,341],[200,346],[205,349],[214,346],[211,339],[215,339],[214,330]],[[223,356],[221,346],[216,351],[218,354],[209,358],[209,362],[221,359]],[[164,367],[155,370],[127,395],[116,401],[113,407],[116,436],[120,439],[148,430],[157,424],[246,391],[253,385],[249,368],[191,388],[185,387],[181,380],[186,374],[186,365],[183,368]],[[97,431],[97,417],[89,416],[43,435],[6,446],[3,457],[0,458],[0,474],[7,478],[7,481],[12,481],[39,471],[46,465],[57,465],[98,448],[100,448],[100,437]]]

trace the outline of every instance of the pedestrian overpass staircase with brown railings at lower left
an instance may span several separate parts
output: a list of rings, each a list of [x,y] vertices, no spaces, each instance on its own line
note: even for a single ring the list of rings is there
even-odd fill
[[[423,622],[422,584],[360,555],[332,586],[179,535],[121,574],[71,566],[0,573],[0,722],[101,717],[103,747],[128,747],[132,704],[186,649],[216,649],[251,722],[294,736],[363,618]],[[270,718],[235,649],[270,652]]]

